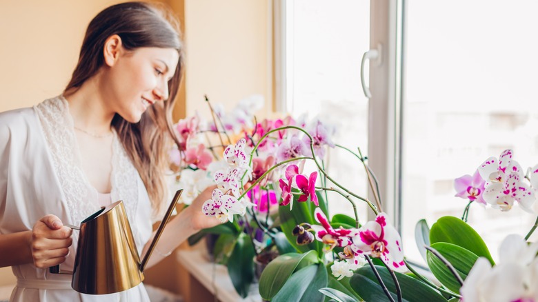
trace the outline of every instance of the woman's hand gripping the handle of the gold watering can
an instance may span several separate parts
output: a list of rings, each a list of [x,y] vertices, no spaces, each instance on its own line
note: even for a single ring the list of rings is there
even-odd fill
[[[30,250],[37,268],[48,268],[66,261],[71,246],[72,230],[63,226],[61,220],[52,215],[39,219],[32,228]]]

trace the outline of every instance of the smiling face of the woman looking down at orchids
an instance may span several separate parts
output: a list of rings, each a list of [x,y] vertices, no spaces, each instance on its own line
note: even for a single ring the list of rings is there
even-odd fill
[[[168,81],[178,60],[173,48],[123,49],[103,77],[110,109],[130,123],[140,121],[150,105],[168,99]]]

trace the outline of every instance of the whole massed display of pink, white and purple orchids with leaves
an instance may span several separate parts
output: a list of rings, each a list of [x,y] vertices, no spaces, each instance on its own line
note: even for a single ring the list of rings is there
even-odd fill
[[[242,296],[254,281],[253,258],[271,251],[279,256],[259,279],[259,294],[271,301],[538,302],[538,245],[526,244],[538,219],[525,239],[507,237],[497,265],[466,223],[472,203],[501,211],[517,204],[532,212],[538,165],[524,174],[512,150],[505,150],[472,176],[455,179],[456,197],[469,201],[461,219],[441,217],[431,228],[424,220],[417,224],[419,250],[437,279],[432,281],[406,261],[401,236],[383,212],[377,180],[361,150],[344,148],[364,166],[373,201],[326,172],[328,148],[343,148],[332,142],[335,128],[304,117],[258,122],[259,97],[241,101],[227,114],[209,105],[210,121],[195,116],[176,125],[181,144],[170,152],[174,185],[184,189],[185,203],[217,185],[201,210],[224,224],[190,241],[220,234],[218,261],[233,263],[228,272]],[[306,161],[315,168],[308,170]],[[352,215],[331,217],[329,194],[345,197]],[[357,202],[367,203],[375,219],[359,223]]]

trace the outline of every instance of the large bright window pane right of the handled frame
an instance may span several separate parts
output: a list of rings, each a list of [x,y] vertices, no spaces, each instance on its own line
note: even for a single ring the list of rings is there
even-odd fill
[[[406,2],[403,58],[402,236],[420,259],[415,223],[461,217],[454,179],[511,148],[538,163],[538,19],[534,1]],[[473,204],[468,222],[494,259],[507,234],[525,236],[536,216]]]

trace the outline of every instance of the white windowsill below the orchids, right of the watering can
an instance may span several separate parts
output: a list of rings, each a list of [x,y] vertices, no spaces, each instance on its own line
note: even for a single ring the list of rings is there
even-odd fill
[[[228,269],[221,264],[209,261],[207,252],[201,248],[194,250],[179,250],[177,261],[183,265],[215,298],[222,302],[259,302],[261,296],[258,293],[257,284],[252,284],[250,295],[241,298],[235,291],[232,280],[228,275]]]

